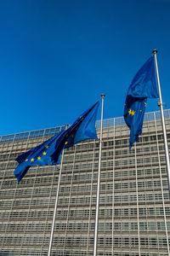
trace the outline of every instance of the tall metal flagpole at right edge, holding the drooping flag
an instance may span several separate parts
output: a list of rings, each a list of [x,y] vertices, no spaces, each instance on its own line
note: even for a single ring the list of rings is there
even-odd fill
[[[163,130],[163,139],[164,139],[164,145],[165,145],[165,155],[166,155],[166,162],[167,162],[167,180],[168,180],[168,189],[169,189],[169,195],[170,195],[170,164],[169,164],[169,152],[168,152],[168,146],[167,146],[167,132],[165,127],[165,117],[163,113],[163,102],[161,98],[161,85],[160,85],[160,79],[159,79],[159,72],[158,72],[158,66],[157,66],[157,59],[156,59],[156,53],[157,49],[153,49],[152,53],[155,57],[155,63],[156,63],[156,78],[157,78],[157,86],[159,91],[159,100],[158,106],[161,108],[161,125]]]

